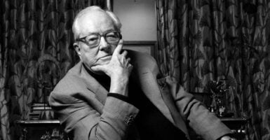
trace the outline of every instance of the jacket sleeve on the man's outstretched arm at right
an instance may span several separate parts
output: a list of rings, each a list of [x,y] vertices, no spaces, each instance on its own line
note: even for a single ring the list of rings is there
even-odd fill
[[[216,140],[231,133],[231,130],[215,114],[210,113],[192,94],[184,91],[184,88],[175,80],[169,76],[165,79],[166,86],[173,94],[173,99],[181,116],[203,139]]]

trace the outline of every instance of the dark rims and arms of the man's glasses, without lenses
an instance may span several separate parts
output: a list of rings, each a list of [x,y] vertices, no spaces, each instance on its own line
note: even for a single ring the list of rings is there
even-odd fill
[[[90,48],[95,48],[95,47],[97,47],[98,45],[100,45],[100,39],[101,39],[101,37],[104,37],[105,41],[108,43],[108,41],[107,41],[107,39],[106,39],[106,34],[108,34],[108,33],[110,33],[110,32],[116,32],[116,33],[118,33],[118,34],[119,34],[119,41],[121,40],[121,38],[122,38],[121,32],[120,32],[120,31],[115,31],[115,30],[113,30],[113,31],[105,31],[103,34],[99,34],[99,33],[88,34],[87,36],[84,36],[84,37],[81,37],[81,38],[76,38],[75,41],[81,41],[81,42],[83,42],[83,43],[86,43],[86,45],[88,45]],[[88,41],[86,41],[86,37],[88,37],[88,36],[90,36],[90,35],[97,35],[97,36],[100,36],[100,37],[99,37],[99,42],[97,43],[97,45],[91,46],[91,45],[88,43]],[[119,42],[119,41],[118,41],[118,42]],[[110,44],[110,45],[115,45],[115,44],[112,44],[112,43],[108,43],[108,44]]]

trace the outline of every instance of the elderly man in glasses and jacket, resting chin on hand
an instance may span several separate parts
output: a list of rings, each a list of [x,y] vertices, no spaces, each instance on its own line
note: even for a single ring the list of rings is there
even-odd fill
[[[50,106],[73,139],[189,139],[187,125],[203,139],[231,133],[170,77],[158,78],[155,60],[123,50],[114,13],[90,6],[73,24],[81,61],[50,94]]]

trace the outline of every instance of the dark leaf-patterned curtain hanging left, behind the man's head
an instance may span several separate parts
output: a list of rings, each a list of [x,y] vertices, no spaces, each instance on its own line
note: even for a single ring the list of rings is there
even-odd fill
[[[0,139],[20,139],[15,120],[27,120],[33,102],[43,102],[79,60],[72,22],[100,0],[1,0]]]

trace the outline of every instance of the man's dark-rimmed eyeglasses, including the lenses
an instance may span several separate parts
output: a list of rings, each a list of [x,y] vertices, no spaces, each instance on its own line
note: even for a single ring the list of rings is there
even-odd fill
[[[122,38],[119,31],[107,31],[104,34],[93,33],[82,38],[76,38],[76,41],[86,43],[90,48],[95,48],[100,44],[100,38],[103,36],[105,41],[111,45],[117,45]]]

